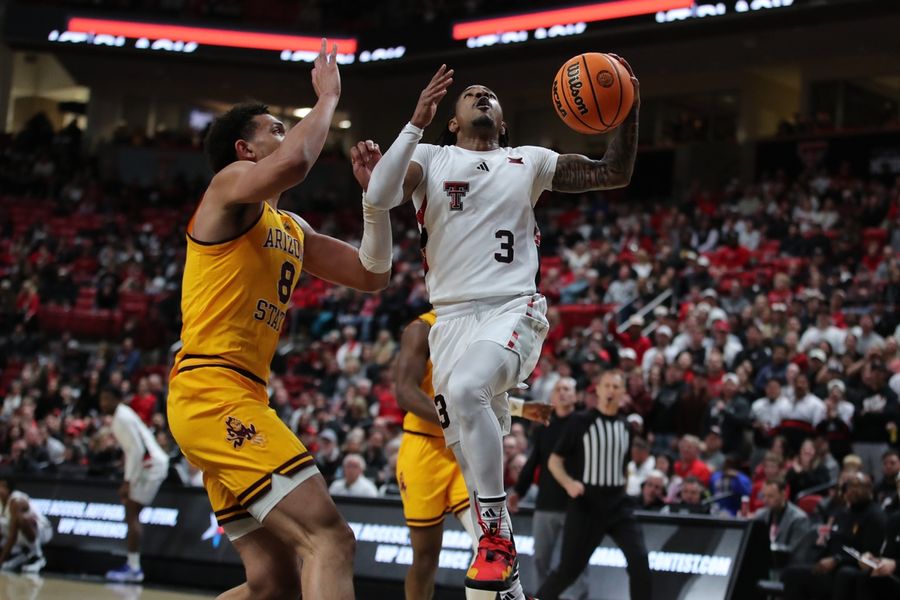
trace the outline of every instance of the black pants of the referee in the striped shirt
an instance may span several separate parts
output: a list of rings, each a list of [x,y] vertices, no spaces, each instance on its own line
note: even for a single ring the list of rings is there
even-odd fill
[[[650,600],[650,564],[644,532],[632,511],[632,500],[625,490],[590,487],[579,498],[569,501],[563,527],[559,565],[547,577],[537,597],[558,600],[584,571],[594,549],[609,534],[628,562],[628,587],[631,600]]]

